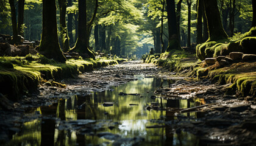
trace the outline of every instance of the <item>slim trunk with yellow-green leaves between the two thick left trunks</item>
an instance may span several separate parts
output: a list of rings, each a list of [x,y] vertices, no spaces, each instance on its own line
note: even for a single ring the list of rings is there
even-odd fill
[[[58,0],[60,7],[60,38],[63,52],[70,50],[68,31],[66,28],[66,0]]]

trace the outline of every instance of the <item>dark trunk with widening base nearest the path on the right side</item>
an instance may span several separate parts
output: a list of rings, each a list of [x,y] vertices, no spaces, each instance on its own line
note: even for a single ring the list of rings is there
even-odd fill
[[[167,52],[173,49],[181,49],[178,31],[177,31],[177,21],[176,21],[176,13],[175,13],[175,1],[174,0],[166,0],[167,4],[167,18],[168,18],[168,47],[166,49]]]

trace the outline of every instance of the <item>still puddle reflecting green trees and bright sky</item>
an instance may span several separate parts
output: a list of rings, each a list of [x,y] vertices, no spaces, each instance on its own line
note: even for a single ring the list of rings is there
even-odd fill
[[[111,91],[71,96],[52,106],[37,108],[34,116],[38,118],[25,122],[7,145],[199,145],[198,137],[172,130],[165,121],[179,116],[202,116],[195,112],[177,115],[180,109],[200,102],[152,99],[156,88],[167,87],[172,81],[137,78]],[[127,95],[120,96],[120,92]],[[146,109],[148,105],[165,110]]]

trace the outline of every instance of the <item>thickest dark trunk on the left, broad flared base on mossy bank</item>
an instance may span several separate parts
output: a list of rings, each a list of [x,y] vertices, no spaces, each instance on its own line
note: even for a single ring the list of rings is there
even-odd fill
[[[56,4],[52,0],[43,0],[43,32],[38,50],[47,58],[65,62],[60,50],[57,34]]]

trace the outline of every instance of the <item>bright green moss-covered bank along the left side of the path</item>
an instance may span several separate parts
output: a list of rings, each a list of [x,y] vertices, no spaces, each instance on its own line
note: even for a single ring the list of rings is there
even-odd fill
[[[43,80],[59,80],[76,77],[107,65],[118,64],[122,59],[67,60],[57,63],[41,55],[26,57],[0,57],[0,93],[16,101],[24,95],[36,92]]]

